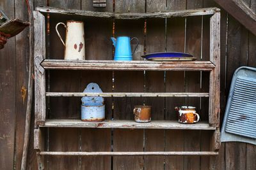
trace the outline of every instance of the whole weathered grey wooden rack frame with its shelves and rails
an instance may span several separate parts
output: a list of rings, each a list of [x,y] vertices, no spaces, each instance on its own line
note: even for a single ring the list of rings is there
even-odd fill
[[[38,7],[33,11],[35,29],[35,150],[38,157],[38,168],[44,169],[44,155],[218,155],[220,148],[220,10],[204,8],[161,13],[99,13],[93,11],[62,10],[49,7]],[[45,17],[43,13],[59,15],[77,15],[81,17],[101,17],[118,19],[189,17],[212,15],[210,19],[210,61],[193,62],[150,62],[113,60],[49,60],[45,59]],[[209,71],[209,93],[57,93],[45,91],[45,69],[87,69],[87,70],[152,70],[152,71]],[[80,120],[47,120],[46,96],[103,96],[103,97],[209,97],[209,123],[181,125],[172,121],[150,124],[136,124],[132,121],[106,120],[101,123],[85,123]],[[124,126],[127,124],[128,126]],[[44,127],[86,127],[86,128],[131,128],[131,129],[198,129],[214,131],[211,137],[211,152],[45,152]]]

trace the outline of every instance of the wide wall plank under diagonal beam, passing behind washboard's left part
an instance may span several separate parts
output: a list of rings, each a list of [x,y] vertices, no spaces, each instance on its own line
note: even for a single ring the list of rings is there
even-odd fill
[[[230,89],[230,82],[234,71],[239,66],[247,64],[248,31],[234,18],[228,15],[228,44],[227,44],[227,90]],[[246,36],[247,35],[247,36]],[[246,168],[246,143],[225,143],[225,168],[245,169]]]

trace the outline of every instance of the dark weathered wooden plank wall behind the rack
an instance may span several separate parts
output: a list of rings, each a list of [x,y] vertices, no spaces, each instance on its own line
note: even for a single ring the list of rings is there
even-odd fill
[[[115,5],[113,5],[115,2]],[[245,3],[256,12],[256,0]],[[212,0],[173,1],[127,1],[109,0],[107,8],[95,9],[92,1],[47,1],[35,0],[34,6],[49,4],[54,7],[83,9],[92,11],[115,12],[153,12],[170,11],[189,8],[216,6]],[[28,20],[24,1],[0,0],[0,8],[10,18]],[[56,36],[55,25],[70,18],[50,18],[49,55],[53,58],[63,56],[63,45]],[[129,34],[140,40],[135,59],[140,55],[157,51],[190,52],[198,60],[209,59],[209,22],[208,17],[169,18],[168,20],[86,20],[86,56],[88,59],[112,59],[111,36]],[[114,30],[112,29],[114,26]],[[145,29],[145,26],[147,29]],[[186,28],[186,29],[185,29]],[[95,30],[99,34],[95,34]],[[94,32],[94,33],[93,33]],[[61,29],[64,36],[64,29]],[[239,66],[256,67],[256,37],[234,18],[221,10],[221,118],[225,111],[232,74]],[[100,50],[99,50],[100,49]],[[103,50],[104,49],[104,50]],[[104,53],[102,53],[104,51]],[[0,169],[20,169],[22,156],[24,122],[26,113],[26,97],[22,92],[28,87],[28,29],[19,36],[9,39],[4,50],[0,51]],[[47,56],[47,57],[50,57]],[[202,56],[202,58],[201,58]],[[106,58],[105,58],[106,57]],[[82,91],[87,83],[99,83],[105,92],[184,92],[207,89],[207,74],[186,71],[164,72],[124,72],[107,71],[52,71],[51,91]],[[90,75],[90,76],[89,76]],[[185,75],[185,77],[184,77]],[[112,87],[112,78],[114,86]],[[125,81],[124,81],[125,78]],[[154,80],[156,81],[153,81]],[[77,81],[78,80],[78,81]],[[173,82],[175,80],[175,83]],[[62,82],[65,86],[60,89]],[[74,83],[76,81],[76,83]],[[136,81],[137,83],[132,83]],[[206,83],[205,83],[206,82]],[[193,84],[193,86],[191,86]],[[21,91],[21,89],[22,90]],[[112,110],[113,101],[113,110]],[[174,106],[191,104],[200,108],[202,119],[207,120],[205,110],[207,99],[164,98],[123,98],[121,101],[109,98],[106,103],[107,117],[116,119],[132,119],[134,104],[150,104],[154,106],[152,119],[175,119]],[[51,99],[52,118],[79,118],[79,99]],[[127,114],[129,113],[129,114]],[[32,120],[33,122],[33,120]],[[36,169],[36,157],[33,151],[33,124],[28,154],[28,169]],[[208,150],[208,139],[211,135],[205,131],[170,131],[170,130],[115,130],[111,129],[49,129],[47,131],[47,147],[49,150],[72,151],[155,151],[155,150]],[[189,134],[189,135],[186,135]],[[111,135],[113,136],[111,138]],[[111,148],[113,145],[113,148]],[[8,154],[6,154],[8,153]],[[218,155],[217,169],[255,169],[256,146],[245,143],[222,143]],[[209,157],[48,157],[45,159],[48,169],[208,169]]]

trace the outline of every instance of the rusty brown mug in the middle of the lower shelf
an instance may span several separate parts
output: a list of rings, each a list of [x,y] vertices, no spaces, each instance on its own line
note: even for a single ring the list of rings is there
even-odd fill
[[[134,120],[139,123],[151,121],[151,106],[134,106]]]

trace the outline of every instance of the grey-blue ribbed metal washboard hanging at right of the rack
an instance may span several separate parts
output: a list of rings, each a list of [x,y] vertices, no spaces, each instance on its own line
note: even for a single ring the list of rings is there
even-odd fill
[[[221,142],[256,145],[256,69],[239,67],[233,75],[221,128]]]

